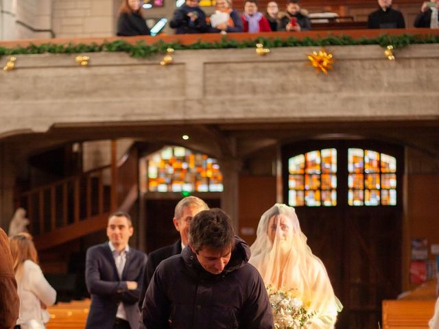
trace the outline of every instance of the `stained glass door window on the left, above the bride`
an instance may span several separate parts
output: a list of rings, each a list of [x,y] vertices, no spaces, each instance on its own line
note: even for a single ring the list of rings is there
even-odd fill
[[[288,160],[290,206],[337,205],[337,150],[321,149]]]

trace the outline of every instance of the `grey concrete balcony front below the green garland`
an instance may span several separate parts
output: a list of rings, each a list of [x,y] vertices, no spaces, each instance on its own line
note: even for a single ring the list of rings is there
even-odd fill
[[[438,119],[439,45],[395,51],[396,61],[375,45],[329,47],[329,75],[307,66],[313,50],[176,51],[169,66],[126,53],[89,53],[86,67],[76,55],[17,56],[0,75],[0,137],[81,122]]]

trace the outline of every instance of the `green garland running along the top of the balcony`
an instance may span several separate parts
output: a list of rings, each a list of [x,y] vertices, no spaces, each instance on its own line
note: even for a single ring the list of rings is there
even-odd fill
[[[0,47],[0,56],[5,55],[23,55],[31,53],[94,53],[100,51],[108,52],[126,52],[134,58],[147,58],[156,53],[165,53],[167,48],[174,48],[175,50],[182,49],[226,49],[226,48],[254,48],[257,43],[262,43],[267,48],[277,47],[324,47],[324,46],[352,46],[352,45],[380,45],[387,47],[393,45],[394,48],[403,48],[407,45],[439,43],[439,35],[425,35],[418,34],[403,34],[401,36],[389,36],[381,34],[375,38],[353,38],[351,36],[327,36],[325,38],[310,38],[305,37],[302,40],[298,38],[258,38],[256,40],[228,40],[222,38],[219,42],[203,42],[198,40],[191,45],[182,45],[178,42],[167,43],[160,40],[154,45],[146,45],[145,42],[139,41],[132,45],[125,40],[115,40],[112,42],[104,42],[102,44],[83,44],[73,45],[72,43],[56,45],[46,43],[43,45],[29,45],[27,47]]]

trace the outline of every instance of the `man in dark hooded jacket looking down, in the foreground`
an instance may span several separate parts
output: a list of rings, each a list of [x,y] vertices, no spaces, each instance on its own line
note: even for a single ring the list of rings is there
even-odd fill
[[[263,280],[250,248],[220,209],[192,219],[189,245],[158,265],[140,328],[274,328]]]

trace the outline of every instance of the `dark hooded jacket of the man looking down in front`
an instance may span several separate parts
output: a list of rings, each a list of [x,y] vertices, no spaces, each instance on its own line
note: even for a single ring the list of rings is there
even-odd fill
[[[158,265],[147,289],[140,328],[273,329],[267,291],[237,238],[218,275],[205,271],[190,247]]]

